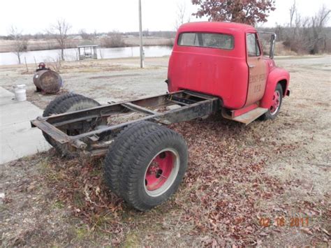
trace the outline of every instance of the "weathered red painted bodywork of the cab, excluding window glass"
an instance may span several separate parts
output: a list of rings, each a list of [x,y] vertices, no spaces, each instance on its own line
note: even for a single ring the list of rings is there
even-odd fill
[[[225,50],[178,45],[179,35],[189,32],[228,34],[234,38],[234,48]],[[289,74],[275,66],[272,59],[263,57],[261,45],[260,56],[249,57],[247,34],[257,34],[257,31],[247,24],[231,22],[183,24],[177,31],[169,60],[169,92],[189,89],[218,96],[223,108],[229,110],[246,110],[256,104],[270,108],[277,83],[285,80],[288,90]]]

